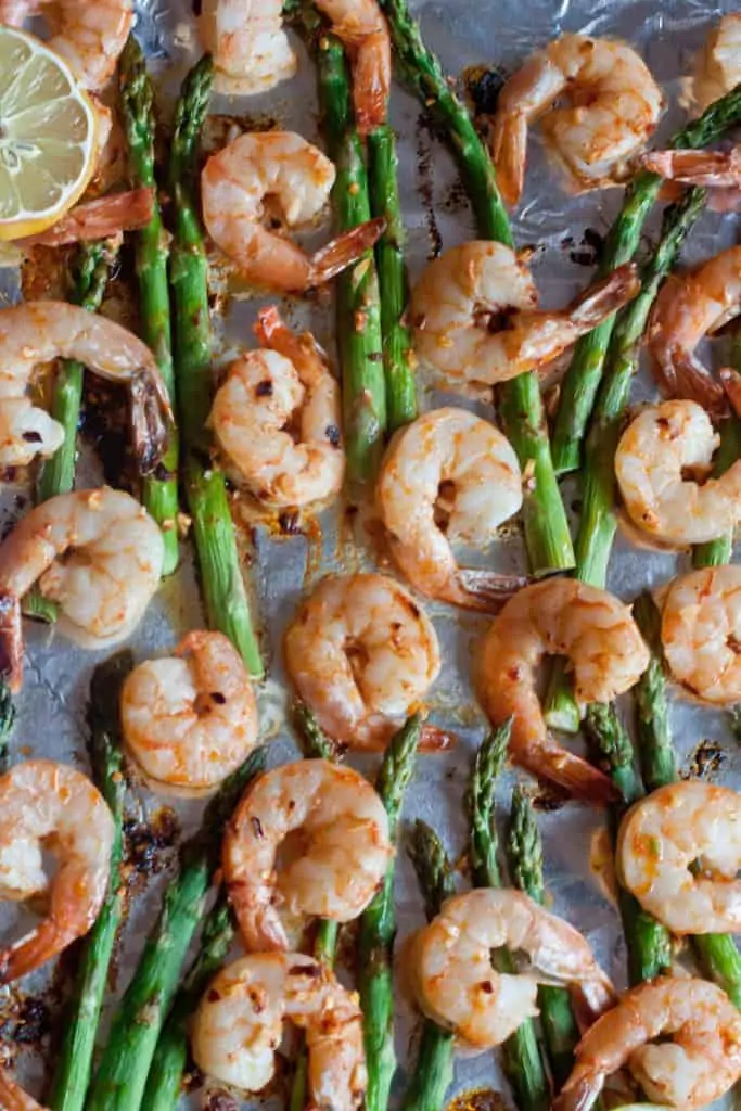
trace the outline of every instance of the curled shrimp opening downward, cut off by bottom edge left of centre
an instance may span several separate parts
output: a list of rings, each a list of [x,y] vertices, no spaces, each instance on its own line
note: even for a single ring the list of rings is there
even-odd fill
[[[286,1019],[306,1031],[310,1105],[360,1107],[367,1075],[358,997],[303,953],[253,953],[222,969],[196,1012],[193,1059],[221,1083],[260,1091],[272,1079]]]

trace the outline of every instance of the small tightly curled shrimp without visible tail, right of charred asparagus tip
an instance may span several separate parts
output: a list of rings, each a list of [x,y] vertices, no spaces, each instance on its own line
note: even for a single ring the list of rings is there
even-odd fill
[[[258,742],[254,691],[228,637],[194,630],[174,654],[147,660],[121,692],[128,748],[148,775],[181,787],[213,787]]]

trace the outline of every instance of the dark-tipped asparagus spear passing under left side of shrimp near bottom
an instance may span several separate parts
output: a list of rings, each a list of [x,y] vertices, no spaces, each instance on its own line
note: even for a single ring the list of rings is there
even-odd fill
[[[438,834],[415,821],[409,855],[417,872],[424,913],[431,921],[445,899],[454,894],[450,861]],[[453,1035],[430,1019],[422,1024],[417,1067],[402,1102],[402,1111],[440,1111],[453,1079]]]

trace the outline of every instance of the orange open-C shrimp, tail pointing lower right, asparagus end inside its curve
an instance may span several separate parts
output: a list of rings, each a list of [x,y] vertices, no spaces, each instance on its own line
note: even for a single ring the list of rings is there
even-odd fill
[[[535,683],[547,654],[569,657],[577,701],[584,705],[630,690],[648,667],[649,651],[627,605],[575,579],[525,587],[484,637],[479,697],[495,724],[512,718],[512,760],[577,798],[605,802],[613,794],[607,775],[549,735]]]

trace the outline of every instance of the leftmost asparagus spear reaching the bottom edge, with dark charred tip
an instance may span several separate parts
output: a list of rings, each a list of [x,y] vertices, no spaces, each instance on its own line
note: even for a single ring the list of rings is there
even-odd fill
[[[84,1107],[98,1020],[108,988],[116,934],[123,914],[124,885],[120,869],[126,780],[120,748],[119,701],[123,681],[132,668],[131,652],[119,652],[96,668],[90,682],[88,748],[93,780],[113,815],[111,873],[106,901],[84,942],[74,997],[66,1014],[64,1038],[50,1100],[51,1111],[82,1111]]]

